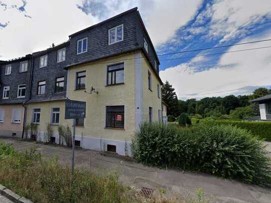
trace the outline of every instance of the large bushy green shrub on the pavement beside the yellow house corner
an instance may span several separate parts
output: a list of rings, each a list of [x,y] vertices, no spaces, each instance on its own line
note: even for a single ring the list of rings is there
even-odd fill
[[[244,129],[204,123],[192,128],[144,123],[132,142],[133,155],[147,165],[271,184],[263,141]]]

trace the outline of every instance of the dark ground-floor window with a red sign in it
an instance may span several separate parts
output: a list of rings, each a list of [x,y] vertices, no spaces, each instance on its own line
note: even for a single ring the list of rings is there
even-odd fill
[[[124,106],[106,107],[106,128],[124,128]]]

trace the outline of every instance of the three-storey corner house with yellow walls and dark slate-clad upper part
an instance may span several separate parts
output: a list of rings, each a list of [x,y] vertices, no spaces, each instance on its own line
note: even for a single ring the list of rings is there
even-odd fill
[[[160,62],[137,7],[32,53],[31,64],[29,97],[20,105],[24,125],[37,124],[41,141],[47,124],[56,143],[58,126],[71,127],[67,98],[86,102],[86,118],[75,122],[76,143],[85,149],[131,155],[140,123],[162,122]]]

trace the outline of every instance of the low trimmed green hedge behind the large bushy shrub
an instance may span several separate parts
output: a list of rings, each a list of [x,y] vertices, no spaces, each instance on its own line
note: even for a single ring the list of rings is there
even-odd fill
[[[197,122],[212,122],[210,120],[193,119],[193,124]],[[256,121],[233,121],[233,120],[215,120],[215,124],[233,125],[242,129],[251,131],[253,135],[259,136],[266,141],[271,142],[271,122]]]

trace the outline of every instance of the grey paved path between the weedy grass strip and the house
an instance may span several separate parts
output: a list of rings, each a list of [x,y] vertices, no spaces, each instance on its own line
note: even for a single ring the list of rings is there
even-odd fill
[[[12,138],[0,138],[13,144],[16,150],[36,148],[45,157],[59,157],[62,164],[71,165],[71,149],[53,145],[36,144]],[[85,168],[97,173],[118,172],[120,181],[127,186],[140,189],[149,187],[165,192],[165,196],[184,197],[195,194],[196,189],[202,188],[206,196],[214,196],[216,203],[270,203],[271,190],[254,185],[242,184],[238,181],[223,180],[204,173],[190,173],[178,170],[163,170],[147,167],[132,161],[117,157],[103,156],[99,152],[76,149],[75,167]]]

